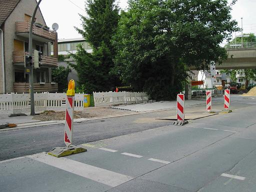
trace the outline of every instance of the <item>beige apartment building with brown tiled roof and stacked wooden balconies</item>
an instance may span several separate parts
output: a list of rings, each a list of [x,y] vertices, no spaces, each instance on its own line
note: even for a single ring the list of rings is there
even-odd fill
[[[28,35],[36,0],[0,0],[0,93],[28,92],[29,69],[24,64],[28,55]],[[50,56],[57,33],[46,26],[40,8],[32,26],[32,49],[42,52],[41,66],[34,69],[34,91],[57,91],[51,81],[51,68],[57,67],[57,46]]]

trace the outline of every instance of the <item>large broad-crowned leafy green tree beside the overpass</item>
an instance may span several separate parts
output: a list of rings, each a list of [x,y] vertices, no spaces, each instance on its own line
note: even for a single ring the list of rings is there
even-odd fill
[[[238,30],[227,0],[129,0],[128,6],[112,40],[115,72],[154,99],[182,90],[186,66],[204,69],[226,59],[219,43]]]

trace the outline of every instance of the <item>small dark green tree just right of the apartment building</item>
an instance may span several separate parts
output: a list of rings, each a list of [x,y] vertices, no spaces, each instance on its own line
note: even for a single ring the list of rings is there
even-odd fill
[[[51,77],[52,81],[58,83],[58,91],[62,92],[67,87],[67,76],[70,72],[70,68],[67,66],[66,68],[64,66],[58,66],[57,68],[51,69]]]

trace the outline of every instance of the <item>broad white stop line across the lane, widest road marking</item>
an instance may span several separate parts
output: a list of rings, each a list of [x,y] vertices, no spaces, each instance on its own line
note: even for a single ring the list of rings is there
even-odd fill
[[[32,158],[39,162],[54,166],[56,168],[83,176],[85,178],[106,184],[111,187],[115,187],[122,184],[128,180],[133,179],[133,177],[78,162],[72,159],[48,155],[45,152],[27,155],[26,157]]]

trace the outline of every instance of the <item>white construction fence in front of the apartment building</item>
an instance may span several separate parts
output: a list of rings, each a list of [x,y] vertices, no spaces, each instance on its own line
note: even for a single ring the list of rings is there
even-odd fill
[[[74,110],[83,110],[83,94],[75,94]],[[66,93],[34,93],[34,110],[65,110]],[[0,115],[30,112],[29,93],[0,94]]]

